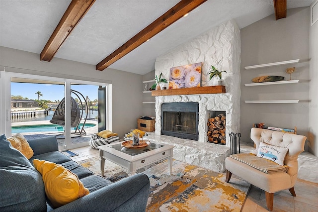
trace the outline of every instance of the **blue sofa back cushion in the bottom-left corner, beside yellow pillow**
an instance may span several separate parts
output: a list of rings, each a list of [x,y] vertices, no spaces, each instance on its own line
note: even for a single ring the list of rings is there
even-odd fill
[[[41,174],[0,135],[0,212],[46,212]]]

